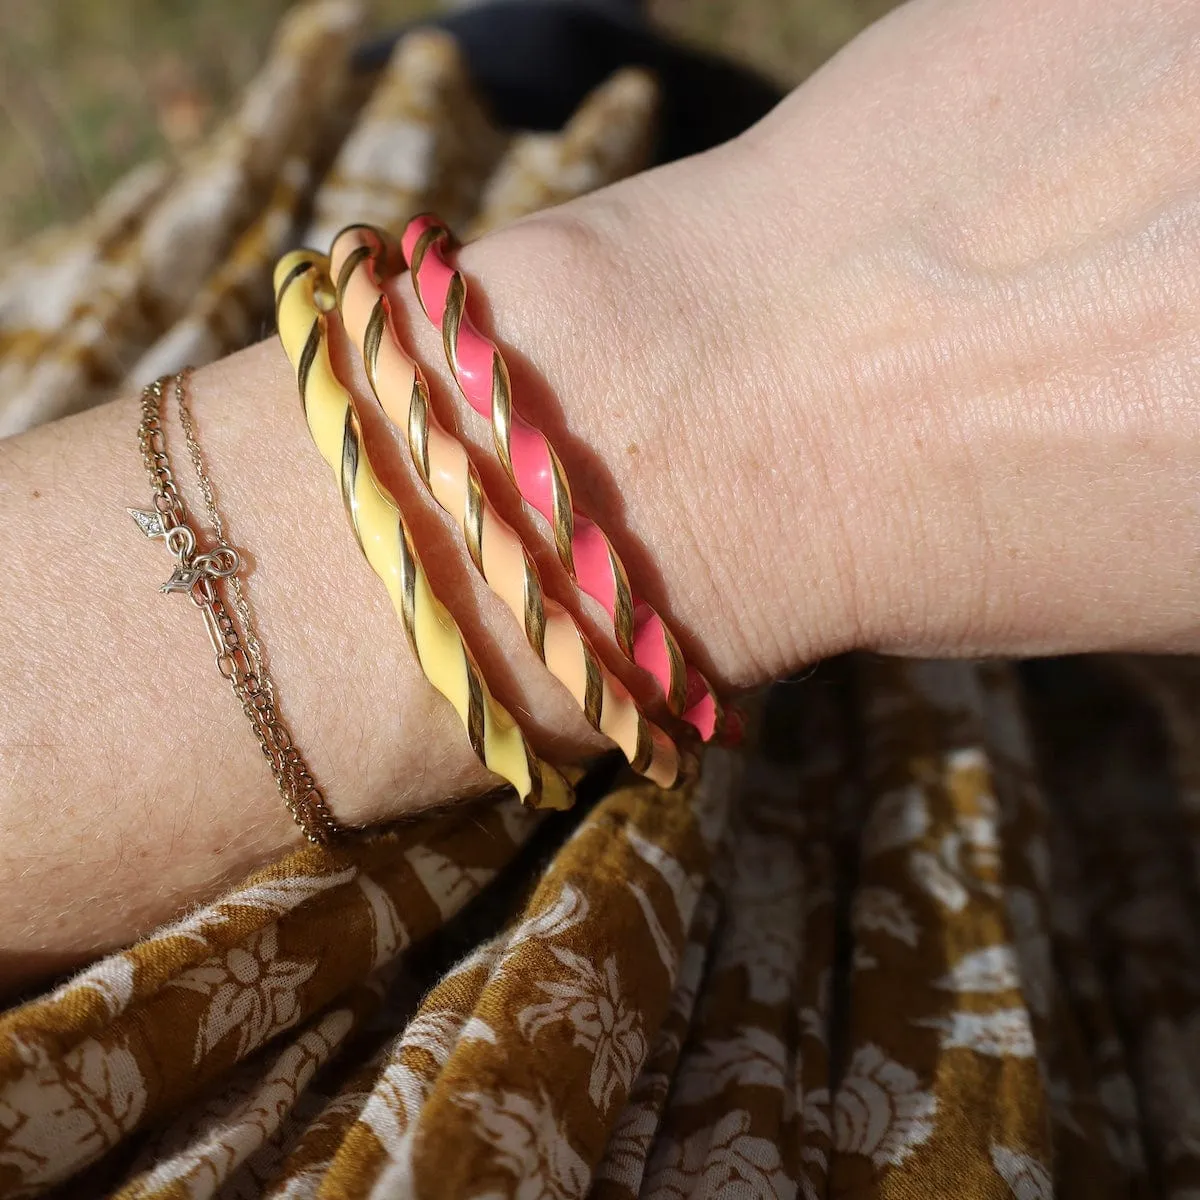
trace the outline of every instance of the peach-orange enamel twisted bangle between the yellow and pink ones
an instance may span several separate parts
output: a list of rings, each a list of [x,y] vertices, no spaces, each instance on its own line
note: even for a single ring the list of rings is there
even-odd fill
[[[403,432],[421,481],[462,528],[479,574],[521,622],[550,673],[636,772],[672,786],[679,773],[674,744],[600,662],[570,613],[545,596],[516,530],[497,514],[462,443],[434,416],[425,377],[397,341],[382,290],[397,257],[386,234],[361,224],[343,229],[330,252],[342,323],[362,354],[376,400]]]

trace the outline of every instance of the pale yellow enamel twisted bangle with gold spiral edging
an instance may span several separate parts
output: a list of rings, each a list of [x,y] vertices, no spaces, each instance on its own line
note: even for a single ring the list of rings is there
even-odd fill
[[[571,782],[533,754],[488,691],[458,626],[430,587],[400,505],[371,464],[354,398],[330,361],[326,314],[336,300],[328,259],[304,250],[284,254],[275,268],[275,301],[280,341],[295,368],[313,442],[338,480],[359,546],[388,588],[426,678],[454,704],[488,770],[534,808],[569,808]]]

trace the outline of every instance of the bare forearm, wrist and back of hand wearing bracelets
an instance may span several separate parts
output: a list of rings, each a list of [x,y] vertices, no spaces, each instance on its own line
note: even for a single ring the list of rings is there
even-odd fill
[[[912,5],[744,138],[463,251],[518,406],[720,688],[851,647],[1198,648],[1198,26],[1186,4]],[[397,296],[448,413],[439,340]],[[198,373],[193,410],[335,811],[485,788],[277,346]],[[124,511],[149,499],[136,425],[127,400],[0,443],[10,979],[298,841]],[[458,426],[484,466],[487,430]],[[413,509],[500,698],[551,757],[600,749],[458,534]]]

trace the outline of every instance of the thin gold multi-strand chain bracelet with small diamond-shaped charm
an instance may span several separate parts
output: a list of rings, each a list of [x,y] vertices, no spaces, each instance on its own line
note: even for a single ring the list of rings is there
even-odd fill
[[[174,377],[164,376],[142,392],[138,442],[142,446],[142,461],[150,476],[154,506],[130,509],[128,512],[146,538],[164,541],[175,556],[175,569],[160,590],[191,596],[192,604],[203,613],[217,670],[229,680],[234,696],[250,720],[263,756],[270,763],[283,803],[311,842],[328,845],[341,832],[341,826],[330,812],[288,727],[280,719],[275,685],[266,672],[263,647],[254,634],[250,605],[239,578],[241,556],[228,544],[224,522],[214,498],[212,482],[196,437],[186,394],[190,373],[184,371]],[[212,548],[203,553],[199,552],[196,530],[188,521],[187,508],[175,484],[167,454],[162,404],[172,382],[187,454],[216,538]],[[224,587],[233,593],[236,617],[222,595]]]

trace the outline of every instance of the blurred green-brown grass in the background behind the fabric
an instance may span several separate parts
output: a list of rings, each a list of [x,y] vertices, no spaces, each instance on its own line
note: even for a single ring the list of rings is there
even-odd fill
[[[666,28],[802,79],[894,0],[650,0]],[[202,138],[289,0],[0,0],[0,247]],[[373,0],[384,31],[430,0]]]

